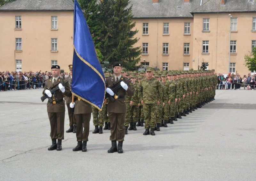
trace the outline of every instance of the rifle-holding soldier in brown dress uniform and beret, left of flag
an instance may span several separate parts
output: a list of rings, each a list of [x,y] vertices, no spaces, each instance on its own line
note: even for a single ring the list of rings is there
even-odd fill
[[[64,95],[67,97],[71,97],[70,85],[67,80],[61,78],[60,76],[60,66],[53,65],[52,66],[52,78],[45,81],[45,87],[43,91],[43,95],[47,94],[52,98],[53,102],[47,103],[47,112],[51,125],[51,133],[50,136],[52,138],[52,146],[48,148],[48,150],[57,149],[60,151],[61,141],[64,140],[64,119],[65,119],[65,102],[63,100]],[[63,83],[66,83],[64,87]],[[55,94],[50,92],[50,88],[58,85],[60,90],[56,91]],[[58,144],[56,143],[56,139],[58,139]]]

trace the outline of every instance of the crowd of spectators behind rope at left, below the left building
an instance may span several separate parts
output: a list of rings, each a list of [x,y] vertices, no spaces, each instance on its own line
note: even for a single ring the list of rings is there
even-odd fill
[[[68,74],[60,74],[62,78],[69,76]],[[41,89],[44,88],[44,82],[51,78],[51,72],[28,71],[28,72],[0,72],[0,91],[15,91],[25,89]]]

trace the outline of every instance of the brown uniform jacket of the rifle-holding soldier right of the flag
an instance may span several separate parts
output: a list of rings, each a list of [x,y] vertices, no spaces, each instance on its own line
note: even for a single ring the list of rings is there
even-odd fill
[[[118,80],[118,82],[120,81],[127,81],[128,79],[121,76],[120,80]],[[115,80],[115,76],[111,76],[108,77],[106,79],[106,88],[110,88],[113,87],[114,85],[116,85]],[[128,85],[128,89],[127,91],[125,91],[122,87],[120,89],[117,90],[117,92],[119,93],[119,96],[125,96],[125,92],[127,92],[128,96],[133,95],[133,91],[132,91],[132,87],[130,82],[126,82],[126,84]],[[108,112],[115,112],[115,113],[125,113],[126,112],[126,100],[125,98],[117,98],[114,102],[112,101],[108,101]]]

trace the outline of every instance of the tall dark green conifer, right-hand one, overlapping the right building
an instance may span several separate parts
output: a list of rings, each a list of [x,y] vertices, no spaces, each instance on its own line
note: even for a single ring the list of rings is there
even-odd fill
[[[121,62],[127,69],[133,69],[140,61],[141,48],[133,47],[138,42],[133,31],[132,6],[129,0],[101,0],[102,34],[104,43],[101,52],[104,61],[113,65]]]

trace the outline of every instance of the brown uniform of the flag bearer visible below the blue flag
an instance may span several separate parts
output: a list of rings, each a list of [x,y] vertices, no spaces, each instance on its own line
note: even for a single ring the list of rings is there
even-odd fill
[[[80,98],[75,98],[75,117],[76,117],[76,140],[88,141],[90,131],[90,119],[92,105]],[[83,131],[84,127],[84,131]]]

